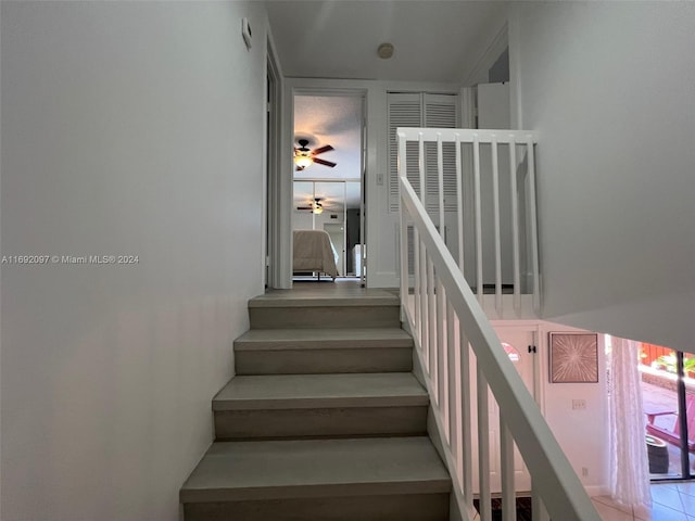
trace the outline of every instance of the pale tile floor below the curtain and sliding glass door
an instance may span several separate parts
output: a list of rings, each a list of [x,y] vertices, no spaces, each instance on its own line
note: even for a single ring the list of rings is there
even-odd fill
[[[652,509],[616,505],[609,497],[592,497],[604,521],[695,521],[695,482],[652,485]]]

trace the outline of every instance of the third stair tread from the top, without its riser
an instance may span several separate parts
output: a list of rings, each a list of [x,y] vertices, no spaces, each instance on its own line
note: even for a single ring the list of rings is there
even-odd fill
[[[214,410],[424,406],[427,391],[409,372],[235,377]]]

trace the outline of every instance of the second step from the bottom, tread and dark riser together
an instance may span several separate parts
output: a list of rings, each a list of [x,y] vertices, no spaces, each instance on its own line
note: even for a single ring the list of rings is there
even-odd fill
[[[412,373],[233,378],[213,399],[220,440],[427,433],[427,392]]]

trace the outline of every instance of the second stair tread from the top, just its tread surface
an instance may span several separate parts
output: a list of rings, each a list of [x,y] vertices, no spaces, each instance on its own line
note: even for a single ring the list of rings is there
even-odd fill
[[[235,342],[236,351],[412,347],[413,338],[400,328],[365,329],[251,329]]]

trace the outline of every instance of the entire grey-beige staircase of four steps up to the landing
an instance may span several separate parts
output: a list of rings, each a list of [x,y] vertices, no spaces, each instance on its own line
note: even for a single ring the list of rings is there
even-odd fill
[[[180,491],[185,520],[447,520],[397,297],[276,291],[249,315],[237,377],[213,399],[215,443]]]

